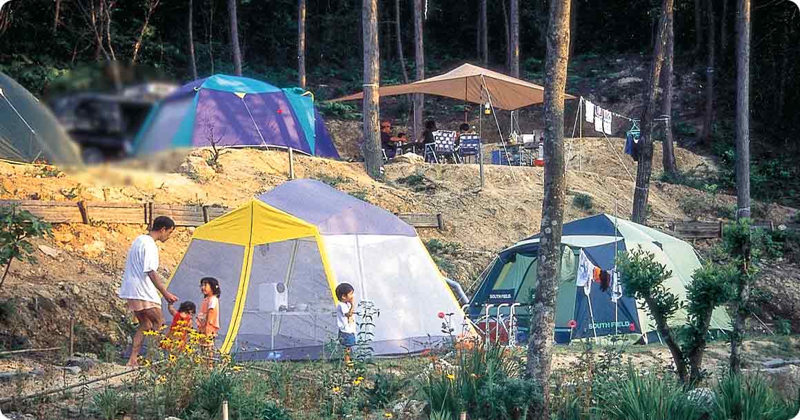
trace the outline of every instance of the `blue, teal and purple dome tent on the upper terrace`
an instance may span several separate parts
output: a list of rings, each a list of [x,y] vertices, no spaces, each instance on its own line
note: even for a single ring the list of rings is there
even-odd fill
[[[226,74],[191,81],[159,102],[134,140],[134,153],[206,147],[212,142],[339,157],[310,93]]]

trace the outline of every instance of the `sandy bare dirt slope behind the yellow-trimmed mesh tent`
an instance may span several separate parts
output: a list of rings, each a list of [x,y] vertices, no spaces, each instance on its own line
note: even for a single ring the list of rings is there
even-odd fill
[[[622,156],[622,141],[587,138],[575,143],[581,145],[580,153],[576,151],[578,145],[572,145],[571,153],[570,145],[567,146],[570,169],[567,171],[566,219],[574,220],[597,212],[614,213],[615,208],[620,216],[630,216],[634,184],[622,165],[635,176],[635,162]],[[236,207],[288,179],[286,153],[233,150],[220,158],[217,172],[209,168],[201,156],[206,154],[195,151],[182,160],[179,153],[170,153],[149,162],[129,162],[126,168],[90,168],[86,172],[69,174],[0,163],[0,199],[154,200]],[[682,166],[710,167],[706,160],[684,149],[678,148],[677,157]],[[142,169],[148,166],[169,172]],[[659,168],[657,153],[654,172]],[[477,164],[392,163],[386,165],[385,182],[371,180],[359,163],[298,156],[294,170],[298,177],[322,178],[390,212],[442,213],[446,228],[441,231],[419,229],[419,235],[423,240],[438,239],[460,246],[446,257],[455,266],[450,275],[466,287],[473,285],[495,252],[538,232],[543,196],[542,168],[486,165],[484,188],[479,187]],[[424,188],[402,181],[410,175],[422,178]],[[592,196],[590,210],[572,204],[577,192]],[[687,219],[681,200],[703,194],[680,185],[654,182],[650,192],[650,223],[662,226],[668,220]],[[735,199],[715,196],[715,200],[734,202]],[[776,207],[770,212],[778,220],[792,211]],[[126,336],[124,329],[130,325],[122,322],[126,314],[115,292],[127,248],[144,230],[143,225],[56,226],[54,238],[39,240],[37,245],[58,249],[58,256],[46,256],[37,251],[38,265],[19,262],[12,265],[4,290],[7,298],[3,300],[12,302],[14,315],[0,319],[0,335],[6,335],[6,342],[18,336],[34,344],[59,344],[66,332],[66,316],[74,313],[82,329],[81,339],[85,342],[82,346],[96,349],[98,343],[117,343]],[[162,267],[167,274],[174,270],[190,237],[191,230],[181,228],[170,242],[159,244]]]

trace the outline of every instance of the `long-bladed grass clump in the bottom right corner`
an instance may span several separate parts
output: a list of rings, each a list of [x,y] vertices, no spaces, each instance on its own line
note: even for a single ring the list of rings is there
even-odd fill
[[[730,374],[718,382],[717,406],[712,420],[789,420],[798,414],[798,405],[781,398],[758,376]]]

